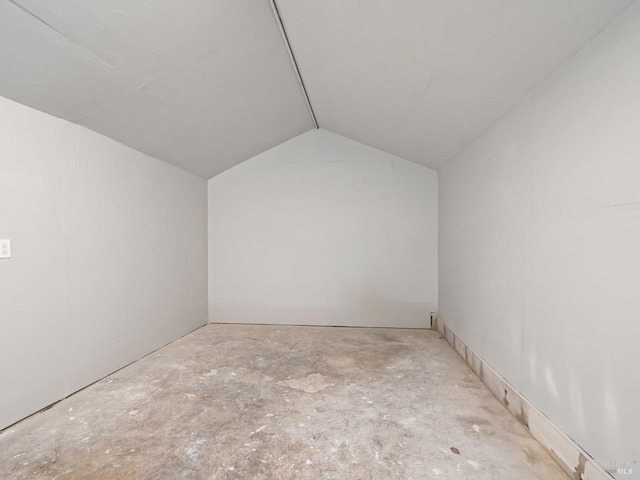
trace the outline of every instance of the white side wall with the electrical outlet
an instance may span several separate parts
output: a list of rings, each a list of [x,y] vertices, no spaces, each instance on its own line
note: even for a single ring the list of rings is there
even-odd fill
[[[205,180],[0,98],[0,428],[206,323],[206,234]]]

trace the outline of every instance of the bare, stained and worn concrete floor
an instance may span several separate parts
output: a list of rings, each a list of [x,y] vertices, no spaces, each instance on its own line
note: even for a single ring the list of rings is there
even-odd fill
[[[434,331],[208,325],[5,430],[0,478],[568,477]]]

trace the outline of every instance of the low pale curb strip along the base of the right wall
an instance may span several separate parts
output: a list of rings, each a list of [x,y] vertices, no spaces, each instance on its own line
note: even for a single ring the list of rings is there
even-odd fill
[[[502,378],[447,326],[440,316],[433,316],[432,328],[444,337],[489,391],[549,452],[570,478],[575,480],[612,480],[614,478],[551,420],[533,407],[509,382]]]

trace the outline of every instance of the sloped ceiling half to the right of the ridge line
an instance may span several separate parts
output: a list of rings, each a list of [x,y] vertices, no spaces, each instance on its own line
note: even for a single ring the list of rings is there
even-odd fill
[[[278,0],[318,124],[441,167],[633,0]]]

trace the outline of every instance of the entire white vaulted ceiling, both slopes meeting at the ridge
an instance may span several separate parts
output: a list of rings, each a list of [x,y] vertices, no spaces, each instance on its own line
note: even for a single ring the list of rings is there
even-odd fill
[[[276,0],[321,128],[439,168],[633,0]],[[205,178],[314,128],[269,0],[0,0],[0,95]]]

